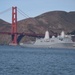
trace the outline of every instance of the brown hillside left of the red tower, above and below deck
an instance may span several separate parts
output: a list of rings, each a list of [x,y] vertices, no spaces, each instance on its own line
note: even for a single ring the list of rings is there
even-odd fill
[[[10,23],[0,19],[0,32],[10,32]],[[0,34],[0,44],[7,44],[10,42],[11,36]]]

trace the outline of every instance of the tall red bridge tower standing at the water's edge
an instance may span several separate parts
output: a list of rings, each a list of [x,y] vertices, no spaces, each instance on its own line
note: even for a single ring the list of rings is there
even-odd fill
[[[11,35],[12,35],[11,45],[17,45],[17,7],[12,7]]]

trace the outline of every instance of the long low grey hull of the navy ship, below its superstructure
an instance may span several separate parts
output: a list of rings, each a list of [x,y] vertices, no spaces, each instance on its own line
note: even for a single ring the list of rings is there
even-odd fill
[[[32,48],[75,48],[75,43],[57,43],[49,45],[35,45],[35,44],[22,44],[23,47],[32,47]]]

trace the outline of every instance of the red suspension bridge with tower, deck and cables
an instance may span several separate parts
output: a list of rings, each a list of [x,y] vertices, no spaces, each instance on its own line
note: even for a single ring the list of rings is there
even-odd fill
[[[1,12],[0,14],[8,11],[9,9]],[[26,14],[25,14],[26,15]],[[26,15],[28,16],[28,15]],[[17,7],[12,7],[12,24],[11,24],[11,32],[0,32],[0,34],[9,34],[11,35],[11,45],[17,45],[18,35],[26,35],[31,37],[43,37],[44,34],[31,34],[31,33],[19,33],[17,32]]]

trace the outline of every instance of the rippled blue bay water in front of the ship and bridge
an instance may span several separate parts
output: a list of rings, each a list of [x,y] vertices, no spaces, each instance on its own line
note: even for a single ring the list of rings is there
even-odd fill
[[[0,75],[75,75],[75,50],[2,45]]]

